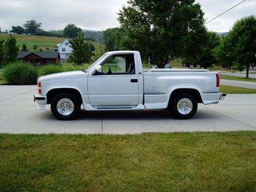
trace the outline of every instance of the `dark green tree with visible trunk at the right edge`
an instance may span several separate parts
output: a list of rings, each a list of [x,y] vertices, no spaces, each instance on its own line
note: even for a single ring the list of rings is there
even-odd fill
[[[249,78],[249,68],[256,63],[255,15],[238,20],[230,31],[230,36],[234,45],[235,61],[239,66],[246,68],[246,78]]]

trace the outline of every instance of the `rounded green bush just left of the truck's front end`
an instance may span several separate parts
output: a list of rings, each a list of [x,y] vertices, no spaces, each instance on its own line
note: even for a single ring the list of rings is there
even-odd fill
[[[38,72],[36,68],[28,63],[16,62],[5,67],[4,78],[8,83],[34,84]]]

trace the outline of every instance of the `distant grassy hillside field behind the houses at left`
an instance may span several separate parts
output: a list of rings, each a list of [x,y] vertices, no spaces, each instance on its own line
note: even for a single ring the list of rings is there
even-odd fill
[[[10,34],[0,33],[0,40],[6,40]],[[26,44],[29,51],[33,50],[33,45],[37,45],[38,49],[46,50],[46,47],[49,47],[51,51],[53,51],[53,47],[57,46],[57,44],[61,43],[66,38],[63,37],[46,37],[46,36],[35,36],[35,35],[17,35],[12,34],[17,41],[17,45],[19,45],[19,49],[22,49],[22,45]],[[70,40],[70,38],[68,38]],[[97,48],[97,42],[92,42],[95,48]]]

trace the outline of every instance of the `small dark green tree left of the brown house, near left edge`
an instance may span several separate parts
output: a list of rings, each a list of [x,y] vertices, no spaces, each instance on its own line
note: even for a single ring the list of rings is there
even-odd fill
[[[16,39],[12,35],[10,35],[5,42],[5,50],[7,62],[13,62],[17,59],[19,46],[16,46]]]

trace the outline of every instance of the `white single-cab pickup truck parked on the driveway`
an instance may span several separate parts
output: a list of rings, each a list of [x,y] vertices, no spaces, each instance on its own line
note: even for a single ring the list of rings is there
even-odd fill
[[[179,119],[195,115],[198,103],[218,103],[217,72],[191,69],[142,69],[138,51],[113,51],[102,55],[83,71],[41,76],[34,101],[38,110],[51,104],[53,115],[70,120],[83,109],[170,109]]]

